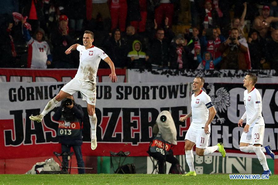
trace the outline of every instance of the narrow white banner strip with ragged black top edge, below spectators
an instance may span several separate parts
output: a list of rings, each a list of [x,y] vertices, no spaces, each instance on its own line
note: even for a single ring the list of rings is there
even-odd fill
[[[275,70],[252,70],[258,76],[258,83],[278,83],[278,76]],[[173,70],[162,69],[152,71],[142,71],[138,69],[128,70],[128,82],[181,82],[191,83],[196,76],[201,76],[206,83],[243,83],[243,79],[249,71],[242,70]]]

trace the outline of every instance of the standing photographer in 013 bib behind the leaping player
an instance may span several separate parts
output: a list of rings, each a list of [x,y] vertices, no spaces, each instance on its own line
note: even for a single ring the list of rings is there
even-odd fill
[[[70,153],[72,147],[79,168],[84,168],[81,153],[83,116],[81,105],[76,104],[71,95],[62,100],[61,106],[53,115],[53,119],[59,121],[58,136],[59,143],[62,145],[62,153]],[[62,160],[62,166],[68,166],[68,156],[62,155]],[[78,173],[84,174],[85,170],[78,169]]]

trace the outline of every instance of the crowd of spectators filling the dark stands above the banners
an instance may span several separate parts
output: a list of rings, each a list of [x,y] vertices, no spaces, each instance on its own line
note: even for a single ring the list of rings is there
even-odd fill
[[[274,0],[6,0],[0,28],[2,68],[78,68],[64,52],[90,30],[116,68],[278,69]]]

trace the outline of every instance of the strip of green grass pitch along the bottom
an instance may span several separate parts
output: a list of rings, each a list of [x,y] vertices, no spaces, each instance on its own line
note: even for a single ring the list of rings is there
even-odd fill
[[[1,174],[0,184],[107,184],[107,185],[175,185],[175,184],[277,184],[278,175],[268,180],[230,180],[229,174],[202,174],[195,177],[183,177],[177,174],[40,174],[14,175]]]

